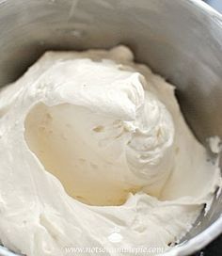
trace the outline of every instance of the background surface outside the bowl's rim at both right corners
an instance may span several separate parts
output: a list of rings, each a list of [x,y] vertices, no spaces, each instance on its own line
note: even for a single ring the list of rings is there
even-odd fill
[[[205,0],[204,2],[222,13],[222,0]],[[222,256],[222,235],[215,239],[209,246],[203,248],[192,256]]]

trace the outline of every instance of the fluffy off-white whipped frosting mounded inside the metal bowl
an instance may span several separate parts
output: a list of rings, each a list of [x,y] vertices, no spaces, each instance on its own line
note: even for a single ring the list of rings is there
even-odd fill
[[[219,169],[174,88],[133,58],[123,46],[48,52],[2,89],[4,246],[30,256],[165,251],[211,201]]]

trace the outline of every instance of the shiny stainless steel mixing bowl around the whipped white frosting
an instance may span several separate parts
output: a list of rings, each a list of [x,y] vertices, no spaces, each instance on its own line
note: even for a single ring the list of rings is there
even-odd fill
[[[182,112],[203,144],[222,137],[222,16],[200,0],[0,0],[0,33],[0,86],[46,50],[123,43],[177,86]],[[221,233],[221,202],[220,195],[168,255],[188,255]],[[1,248],[0,254],[9,255]]]

